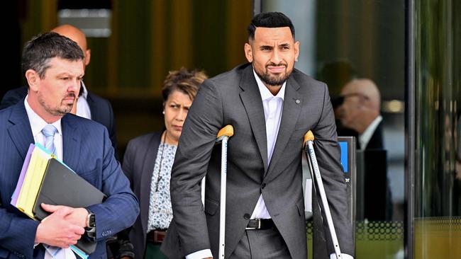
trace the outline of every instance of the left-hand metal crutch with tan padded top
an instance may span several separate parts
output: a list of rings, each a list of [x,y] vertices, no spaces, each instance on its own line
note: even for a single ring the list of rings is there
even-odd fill
[[[224,238],[226,236],[226,177],[227,177],[227,142],[234,134],[232,125],[223,127],[216,136],[221,142],[221,205],[219,206],[219,258],[224,259]]]

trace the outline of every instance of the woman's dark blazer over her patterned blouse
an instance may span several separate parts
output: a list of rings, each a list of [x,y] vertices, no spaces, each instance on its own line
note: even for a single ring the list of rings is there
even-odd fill
[[[143,258],[148,229],[150,183],[162,131],[136,137],[128,142],[123,156],[123,172],[130,180],[131,190],[138,197],[140,214],[130,229],[135,258]]]

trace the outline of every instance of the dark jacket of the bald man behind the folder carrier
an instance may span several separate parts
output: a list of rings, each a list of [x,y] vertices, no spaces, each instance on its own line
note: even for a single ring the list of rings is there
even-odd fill
[[[1,99],[0,110],[18,103],[26,96],[27,86],[11,89],[6,92],[4,97]],[[90,91],[88,91],[87,102],[91,112],[91,120],[101,123],[106,126],[107,130],[109,130],[109,137],[111,138],[112,147],[115,150],[114,154],[118,159],[116,125],[113,120],[111,103],[109,103],[109,100],[101,98]]]

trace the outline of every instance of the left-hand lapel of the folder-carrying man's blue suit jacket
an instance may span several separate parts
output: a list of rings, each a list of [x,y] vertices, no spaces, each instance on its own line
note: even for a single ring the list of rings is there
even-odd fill
[[[21,99],[17,105],[14,106],[11,116],[9,118],[12,126],[9,127],[8,133],[13,141],[22,159],[26,159],[26,153],[30,143],[35,143],[30,129],[30,122],[27,117],[26,107],[24,107],[24,99]]]

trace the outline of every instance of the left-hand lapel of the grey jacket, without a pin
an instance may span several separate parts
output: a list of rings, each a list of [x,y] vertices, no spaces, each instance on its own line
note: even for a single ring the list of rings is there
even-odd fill
[[[261,94],[257,88],[255,76],[252,66],[248,66],[242,72],[240,80],[240,99],[248,115],[251,130],[255,136],[257,147],[260,149],[262,162],[264,163],[264,171],[267,172],[267,136],[266,122],[264,117],[264,108],[262,107]]]

